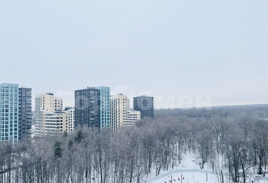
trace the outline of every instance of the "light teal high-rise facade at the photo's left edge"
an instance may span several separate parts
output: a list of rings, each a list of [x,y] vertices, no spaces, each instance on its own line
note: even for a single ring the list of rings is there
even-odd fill
[[[18,84],[0,84],[0,143],[14,144],[19,140],[18,95]]]

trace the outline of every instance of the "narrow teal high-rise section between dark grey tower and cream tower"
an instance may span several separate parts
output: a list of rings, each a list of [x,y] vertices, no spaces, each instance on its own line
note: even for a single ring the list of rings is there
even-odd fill
[[[110,126],[110,87],[96,87],[100,91],[99,127]]]

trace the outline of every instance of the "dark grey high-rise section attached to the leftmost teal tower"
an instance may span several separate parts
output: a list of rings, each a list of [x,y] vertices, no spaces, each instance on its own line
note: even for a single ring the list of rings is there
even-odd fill
[[[32,88],[19,88],[18,140],[31,138],[32,128]]]

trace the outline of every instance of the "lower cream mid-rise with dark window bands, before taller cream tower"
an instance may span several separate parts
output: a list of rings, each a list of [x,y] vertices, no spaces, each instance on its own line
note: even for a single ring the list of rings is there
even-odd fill
[[[68,132],[69,114],[61,110],[43,110],[44,134],[59,135]]]

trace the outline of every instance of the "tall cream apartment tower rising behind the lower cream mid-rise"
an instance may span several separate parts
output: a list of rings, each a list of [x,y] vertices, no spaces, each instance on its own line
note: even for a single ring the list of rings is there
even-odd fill
[[[53,93],[35,94],[35,135],[45,134],[44,111],[62,110],[63,98]]]

